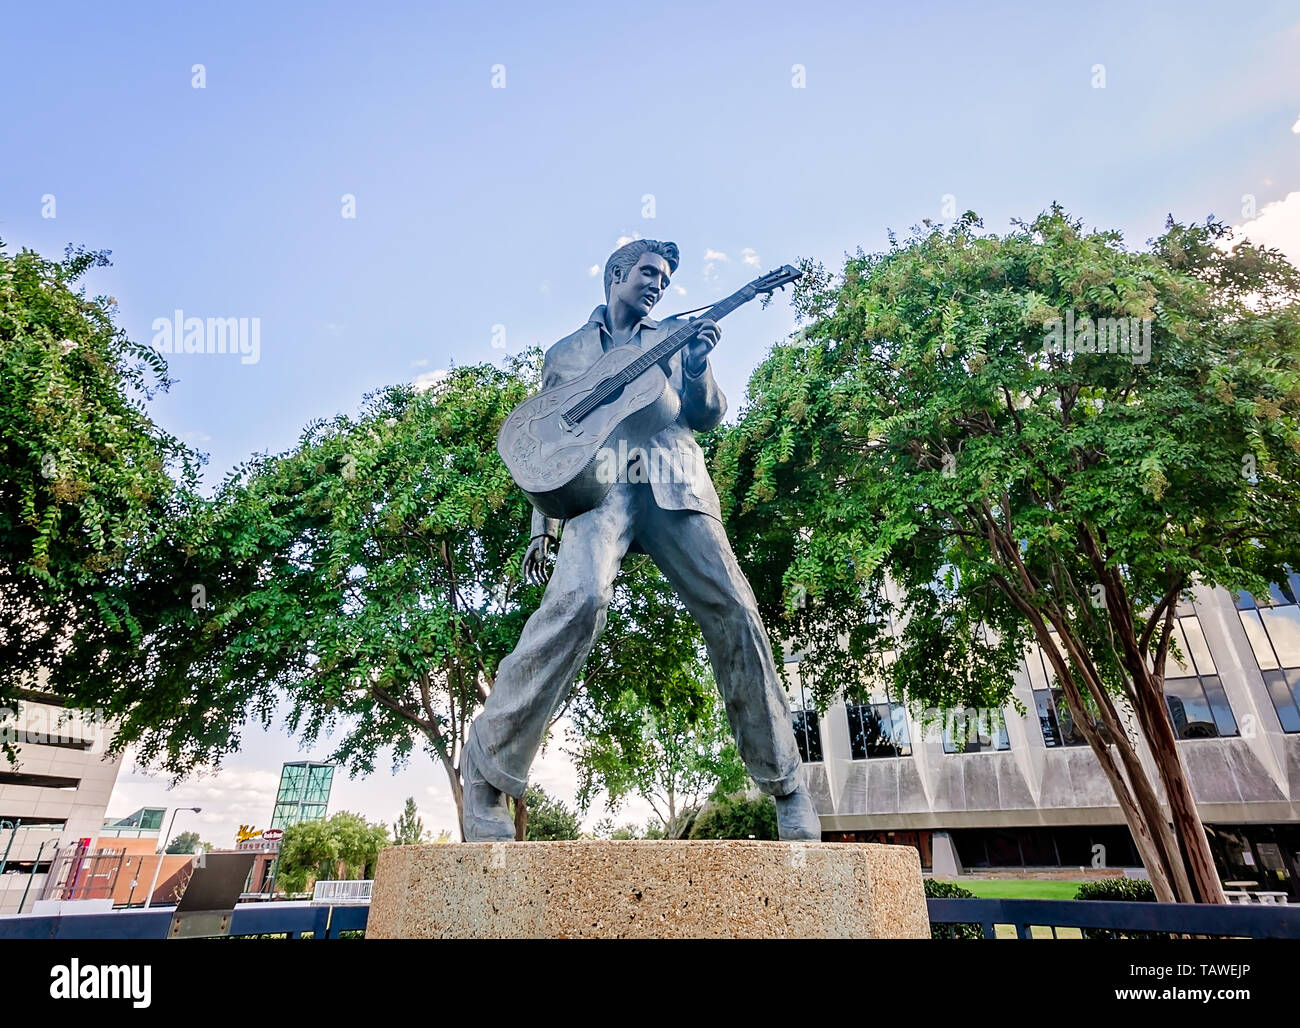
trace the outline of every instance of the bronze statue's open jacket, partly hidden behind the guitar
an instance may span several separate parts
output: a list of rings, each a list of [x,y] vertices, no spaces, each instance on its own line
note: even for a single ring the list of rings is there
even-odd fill
[[[666,321],[642,318],[640,334],[633,337],[630,346],[650,350],[666,337],[686,324],[686,318],[671,317]],[[542,389],[551,389],[577,378],[595,364],[610,348],[608,329],[604,322],[604,304],[592,312],[588,322],[560,339],[546,351],[542,363]],[[718,491],[705,467],[705,454],[696,442],[697,431],[707,431],[716,426],[727,413],[727,398],[714,381],[708,363],[698,376],[690,376],[682,366],[682,351],[679,350],[668,360],[668,383],[681,399],[677,420],[649,439],[629,441],[630,447],[640,446],[650,461],[649,483],[654,490],[655,504],[666,511],[698,511],[722,520],[722,507]],[[642,474],[645,474],[642,472]],[[638,481],[637,472],[629,472],[628,481]],[[541,521],[534,512],[533,533]],[[547,528],[551,528],[547,524]]]

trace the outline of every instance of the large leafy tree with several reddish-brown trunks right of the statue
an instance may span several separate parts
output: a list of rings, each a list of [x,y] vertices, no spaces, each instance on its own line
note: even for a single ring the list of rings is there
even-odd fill
[[[719,442],[737,551],[823,706],[875,681],[1000,708],[1039,645],[1156,895],[1222,902],[1162,686],[1193,584],[1300,565],[1300,273],[1213,221],[1143,251],[1057,208],[979,229],[806,268],[809,324]],[[1050,346],[1082,318],[1139,334]]]

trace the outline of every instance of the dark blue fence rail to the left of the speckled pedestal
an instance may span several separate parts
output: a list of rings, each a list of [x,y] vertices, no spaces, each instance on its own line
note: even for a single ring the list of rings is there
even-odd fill
[[[112,914],[61,914],[0,918],[0,938],[166,938],[174,907],[114,910]],[[230,919],[231,936],[287,934],[338,938],[365,929],[368,906],[312,903],[240,903]]]

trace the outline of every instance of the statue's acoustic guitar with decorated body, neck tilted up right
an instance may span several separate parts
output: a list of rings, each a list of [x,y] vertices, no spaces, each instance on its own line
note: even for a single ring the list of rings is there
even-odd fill
[[[720,321],[760,294],[801,277],[789,264],[692,318],[666,339],[642,350],[607,351],[571,382],[529,396],[497,434],[497,452],[528,498],[547,517],[577,517],[601,503],[614,486],[597,473],[603,447],[644,443],[677,420],[681,399],[664,372],[668,357],[696,338],[705,318]]]

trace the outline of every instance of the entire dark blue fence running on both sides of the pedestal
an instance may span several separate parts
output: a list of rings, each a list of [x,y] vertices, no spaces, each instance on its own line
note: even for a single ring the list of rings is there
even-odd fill
[[[994,925],[1009,924],[1020,938],[1031,928],[1092,929],[1097,933],[1158,932],[1238,938],[1300,938],[1300,905],[1205,906],[1199,903],[1130,903],[1078,899],[927,899],[931,925],[956,933],[976,924],[985,938]],[[240,903],[230,921],[231,936],[286,934],[290,938],[338,938],[339,932],[365,929],[368,906],[311,903]],[[117,910],[112,914],[0,918],[4,938],[165,938],[170,907]]]

